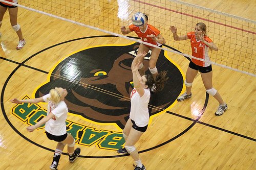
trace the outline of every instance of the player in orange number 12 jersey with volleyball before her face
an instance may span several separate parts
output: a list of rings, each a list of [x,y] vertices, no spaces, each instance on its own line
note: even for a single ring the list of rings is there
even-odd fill
[[[125,35],[134,31],[142,41],[162,47],[162,44],[165,44],[165,39],[160,34],[160,31],[158,29],[147,24],[147,20],[148,20],[147,15],[141,12],[137,12],[136,14],[133,15],[132,17],[133,24],[130,25],[129,28],[126,28],[125,26],[121,27],[122,34]],[[156,77],[158,74],[156,63],[157,63],[159,54],[161,52],[161,49],[141,43],[139,46],[138,53],[143,53],[143,52],[147,53],[150,50],[152,51],[152,53],[150,58],[149,70],[154,80],[156,80]],[[139,72],[141,76],[145,74],[143,58],[141,58],[141,64],[139,65]],[[151,91],[156,92],[157,90],[158,90],[158,87],[156,84],[154,84],[154,86],[151,88]]]

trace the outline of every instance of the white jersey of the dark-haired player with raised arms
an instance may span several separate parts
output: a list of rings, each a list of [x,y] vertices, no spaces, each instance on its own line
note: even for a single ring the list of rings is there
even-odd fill
[[[131,92],[131,112],[130,118],[134,120],[138,127],[148,125],[150,113],[148,113],[147,105],[150,102],[150,89],[144,89],[144,94],[140,97],[134,88]]]

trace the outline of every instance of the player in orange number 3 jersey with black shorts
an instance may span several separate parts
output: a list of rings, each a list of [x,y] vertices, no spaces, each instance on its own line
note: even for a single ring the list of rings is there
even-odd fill
[[[191,88],[192,83],[195,77],[198,74],[198,71],[201,74],[204,87],[206,92],[210,95],[214,96],[214,98],[219,102],[218,110],[215,115],[220,116],[227,110],[227,104],[222,100],[220,93],[212,87],[212,67],[210,63],[210,58],[208,56],[208,50],[218,51],[218,47],[212,42],[212,40],[206,35],[206,25],[203,22],[197,23],[195,27],[195,32],[189,32],[187,35],[178,36],[177,28],[174,26],[170,26],[170,31],[172,31],[174,40],[187,40],[190,39],[191,48],[192,48],[192,56],[200,59],[204,59],[204,61],[200,61],[192,58],[186,72],[186,92],[179,96],[177,99],[179,102],[184,101],[187,98],[191,98]]]

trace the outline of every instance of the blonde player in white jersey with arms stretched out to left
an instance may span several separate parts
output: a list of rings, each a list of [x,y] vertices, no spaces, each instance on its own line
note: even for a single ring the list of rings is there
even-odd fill
[[[11,100],[12,103],[39,103],[48,102],[47,116],[42,118],[34,126],[27,127],[29,132],[33,132],[36,128],[45,124],[46,135],[50,140],[54,140],[57,143],[57,147],[53,156],[53,161],[50,169],[56,170],[59,162],[60,155],[68,144],[69,161],[72,163],[80,154],[80,148],[74,148],[75,139],[66,129],[66,118],[68,114],[68,107],[64,102],[66,95],[68,94],[66,89],[61,87],[55,87],[50,90],[49,94],[46,94],[36,99],[26,100]]]

